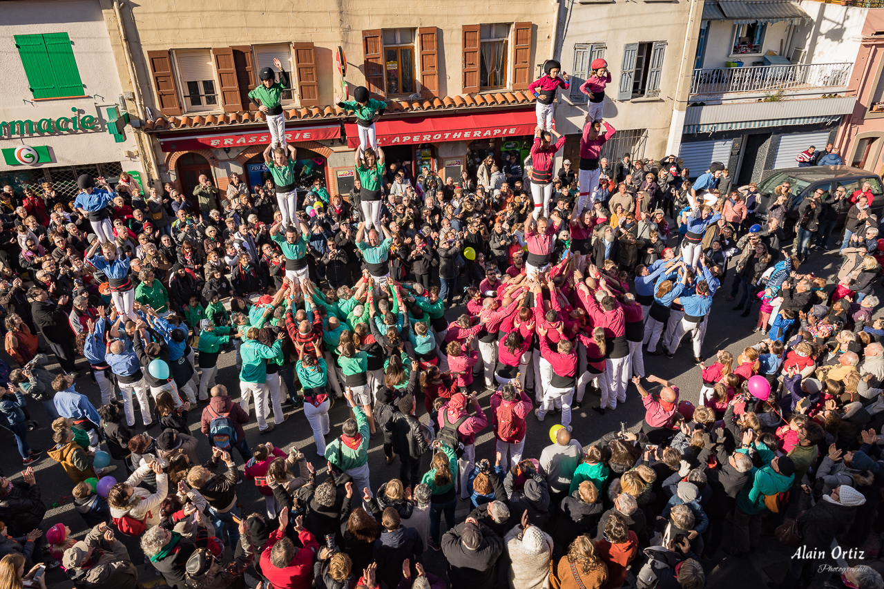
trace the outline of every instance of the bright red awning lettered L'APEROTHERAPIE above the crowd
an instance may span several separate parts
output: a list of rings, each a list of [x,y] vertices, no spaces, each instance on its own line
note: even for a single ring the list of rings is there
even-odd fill
[[[384,117],[375,123],[377,143],[381,147],[533,135],[536,127],[534,111],[476,112],[395,120]],[[346,123],[344,131],[347,133],[347,145],[358,147],[356,124]]]

